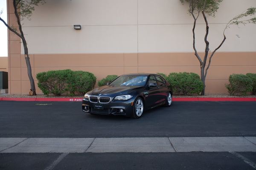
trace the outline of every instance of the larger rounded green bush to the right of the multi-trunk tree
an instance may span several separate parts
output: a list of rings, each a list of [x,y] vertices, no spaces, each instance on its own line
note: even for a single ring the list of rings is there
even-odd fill
[[[246,95],[253,90],[253,81],[250,77],[243,74],[232,74],[229,77],[230,84],[226,88],[231,96]]]

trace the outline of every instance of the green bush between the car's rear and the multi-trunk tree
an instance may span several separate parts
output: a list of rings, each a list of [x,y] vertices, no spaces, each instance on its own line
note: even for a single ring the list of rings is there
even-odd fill
[[[161,74],[172,85],[173,91],[178,93],[187,94],[200,94],[204,89],[204,84],[198,74],[195,73],[170,73],[169,76]]]

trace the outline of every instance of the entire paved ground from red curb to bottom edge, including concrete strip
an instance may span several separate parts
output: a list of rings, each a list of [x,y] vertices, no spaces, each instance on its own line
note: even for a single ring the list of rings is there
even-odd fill
[[[1,101],[0,108],[4,170],[256,169],[255,102],[173,102],[140,119],[91,115],[80,102]],[[64,150],[79,144],[86,149]]]

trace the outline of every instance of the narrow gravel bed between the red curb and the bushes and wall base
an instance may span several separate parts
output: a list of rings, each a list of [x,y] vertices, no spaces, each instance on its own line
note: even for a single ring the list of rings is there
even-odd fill
[[[83,96],[54,96],[49,95],[48,97],[44,94],[38,94],[36,96],[29,96],[28,94],[0,94],[1,97],[11,97],[11,98],[83,98]],[[247,95],[247,96],[230,96],[229,94],[206,94],[205,96],[201,95],[174,95],[173,98],[181,98],[181,97],[250,97],[250,98],[256,98],[256,95]]]

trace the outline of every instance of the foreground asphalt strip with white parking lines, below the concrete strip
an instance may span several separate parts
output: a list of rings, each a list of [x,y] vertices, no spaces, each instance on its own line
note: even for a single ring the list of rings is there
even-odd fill
[[[239,153],[250,160],[255,153]],[[59,158],[62,158],[58,161]],[[0,153],[3,170],[255,170],[228,152]]]

